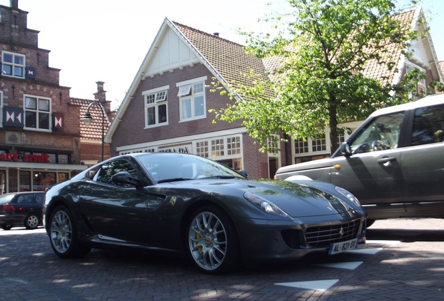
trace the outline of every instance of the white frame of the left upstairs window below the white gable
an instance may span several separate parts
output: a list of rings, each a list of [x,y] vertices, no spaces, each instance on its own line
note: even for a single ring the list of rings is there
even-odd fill
[[[154,128],[162,125],[168,125],[168,89],[169,85],[161,86],[158,88],[150,89],[142,92],[144,107],[145,107],[145,128]],[[152,102],[148,102],[149,98],[152,98]],[[165,105],[166,121],[160,122],[158,120],[159,107]],[[154,120],[155,123],[149,124],[148,109],[154,108]]]

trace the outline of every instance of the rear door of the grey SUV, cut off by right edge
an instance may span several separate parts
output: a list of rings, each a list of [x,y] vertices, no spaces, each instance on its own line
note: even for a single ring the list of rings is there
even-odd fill
[[[444,212],[444,105],[415,109],[403,149],[404,201],[410,216]]]

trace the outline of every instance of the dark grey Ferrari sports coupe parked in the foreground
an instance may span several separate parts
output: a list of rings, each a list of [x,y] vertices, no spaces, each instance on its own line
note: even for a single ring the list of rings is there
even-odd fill
[[[62,258],[91,247],[139,247],[187,255],[211,274],[246,259],[353,249],[365,220],[357,199],[340,187],[247,180],[179,153],[112,157],[45,196],[45,229]]]

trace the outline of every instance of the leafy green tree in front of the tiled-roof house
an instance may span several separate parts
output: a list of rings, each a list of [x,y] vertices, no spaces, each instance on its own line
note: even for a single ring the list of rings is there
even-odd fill
[[[246,52],[274,65],[269,79],[254,86],[232,84],[235,102],[215,111],[214,121],[243,121],[247,132],[267,151],[272,134],[306,139],[330,127],[332,151],[339,123],[357,121],[380,107],[395,105],[393,87],[366,77],[366,63],[396,68],[396,54],[417,38],[390,0],[288,0],[290,13],[264,19],[278,31],[242,32]],[[277,64],[276,64],[277,62]],[[388,81],[387,81],[388,82]],[[397,86],[399,90],[405,86]],[[214,90],[221,89],[214,83]],[[222,89],[223,90],[223,89]]]

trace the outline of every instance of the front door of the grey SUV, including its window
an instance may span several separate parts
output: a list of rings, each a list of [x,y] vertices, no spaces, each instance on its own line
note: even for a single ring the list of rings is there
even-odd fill
[[[350,153],[334,158],[331,183],[353,192],[372,219],[405,212],[398,148],[404,115],[400,111],[376,116],[348,141]]]

